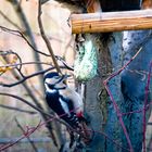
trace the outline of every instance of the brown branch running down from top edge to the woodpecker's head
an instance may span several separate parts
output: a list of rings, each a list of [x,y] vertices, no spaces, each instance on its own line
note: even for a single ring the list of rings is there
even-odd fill
[[[45,29],[43,29],[43,25],[42,25],[42,22],[41,22],[41,2],[39,0],[38,2],[38,25],[39,25],[39,29],[40,29],[40,34],[41,34],[41,37],[43,38],[43,41],[46,42],[46,46],[48,48],[48,51],[50,52],[51,56],[52,56],[52,60],[53,60],[53,63],[54,63],[54,66],[58,71],[58,73],[62,74],[61,69],[60,69],[60,66],[55,60],[55,55],[53,53],[53,50],[52,50],[52,47],[51,47],[51,43],[49,41],[49,39],[47,38],[46,34],[45,34]]]

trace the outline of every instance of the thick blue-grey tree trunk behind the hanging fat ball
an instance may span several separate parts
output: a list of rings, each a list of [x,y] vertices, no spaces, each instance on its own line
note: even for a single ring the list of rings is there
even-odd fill
[[[90,117],[90,124],[94,130],[93,141],[88,147],[90,152],[129,151],[126,136],[102,81],[111,68],[113,68],[113,72],[119,69],[136,54],[139,47],[142,46],[142,51],[127,68],[110,80],[109,86],[122,113],[138,111],[144,107],[145,85],[152,59],[152,40],[148,38],[150,33],[151,30],[114,33],[111,41],[106,43],[106,47],[103,46],[104,48],[101,49],[102,51],[99,53],[100,76],[89,81],[86,87],[86,112]],[[110,51],[111,62],[105,60],[107,56],[105,52],[107,51]],[[152,81],[150,86],[152,87]],[[150,96],[152,94],[149,92],[148,102],[152,99]],[[147,115],[147,121],[148,117],[149,115]],[[123,121],[134,151],[140,152],[142,150],[143,138],[142,111],[140,113],[123,115]]]

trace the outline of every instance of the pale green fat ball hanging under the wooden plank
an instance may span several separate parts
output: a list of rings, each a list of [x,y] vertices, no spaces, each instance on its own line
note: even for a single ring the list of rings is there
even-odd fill
[[[87,81],[97,75],[98,58],[96,42],[87,35],[87,39],[80,38],[74,63],[74,75],[78,81]]]

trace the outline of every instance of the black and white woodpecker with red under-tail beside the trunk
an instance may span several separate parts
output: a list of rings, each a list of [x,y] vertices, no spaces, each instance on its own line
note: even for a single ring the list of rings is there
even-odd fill
[[[45,75],[46,100],[49,107],[76,129],[85,119],[84,103],[80,96],[65,84],[66,78],[67,75],[61,76],[55,72]]]

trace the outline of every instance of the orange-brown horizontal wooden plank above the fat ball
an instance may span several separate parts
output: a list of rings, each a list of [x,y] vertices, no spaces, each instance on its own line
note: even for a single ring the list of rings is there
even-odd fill
[[[72,15],[73,34],[152,28],[152,10]]]

